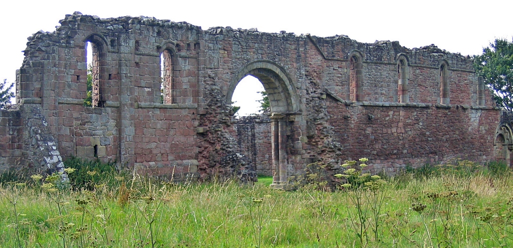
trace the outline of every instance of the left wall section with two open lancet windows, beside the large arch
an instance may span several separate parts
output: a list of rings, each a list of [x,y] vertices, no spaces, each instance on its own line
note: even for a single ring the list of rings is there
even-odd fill
[[[175,165],[176,173],[194,171],[198,69],[192,68],[197,58],[191,58],[194,47],[187,42],[197,28],[183,25],[173,31],[169,25],[157,33],[141,21],[75,14],[61,20],[55,32],[35,33],[19,70],[18,101],[41,104],[64,156],[116,160],[156,174]],[[177,40],[185,40],[184,45]],[[96,108],[83,106],[87,42],[98,67]],[[174,88],[172,103],[161,104],[160,53],[168,43],[173,45]]]

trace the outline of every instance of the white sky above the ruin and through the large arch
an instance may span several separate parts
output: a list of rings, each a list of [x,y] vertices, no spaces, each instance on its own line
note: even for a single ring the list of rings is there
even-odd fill
[[[435,44],[449,52],[477,55],[496,38],[511,41],[511,9],[511,0],[10,1],[0,8],[0,79],[14,82],[27,37],[39,30],[54,31],[58,21],[74,11],[102,18],[153,16],[203,29],[230,26],[322,37],[339,34],[366,43],[399,41],[407,48]],[[248,83],[252,84],[258,81]],[[245,91],[257,91],[248,87]],[[247,96],[242,100],[251,101]],[[243,105],[241,113],[242,100],[233,99],[235,105]]]

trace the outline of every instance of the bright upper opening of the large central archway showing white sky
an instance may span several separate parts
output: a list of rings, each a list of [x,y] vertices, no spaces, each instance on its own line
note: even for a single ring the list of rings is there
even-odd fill
[[[235,116],[250,116],[263,113],[269,108],[269,98],[262,83],[255,77],[247,75],[244,77],[232,96],[232,106]]]

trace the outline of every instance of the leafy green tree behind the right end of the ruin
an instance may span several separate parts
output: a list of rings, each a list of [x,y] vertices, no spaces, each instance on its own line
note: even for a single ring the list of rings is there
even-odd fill
[[[474,58],[474,69],[494,92],[497,104],[513,110],[513,42],[496,39]]]

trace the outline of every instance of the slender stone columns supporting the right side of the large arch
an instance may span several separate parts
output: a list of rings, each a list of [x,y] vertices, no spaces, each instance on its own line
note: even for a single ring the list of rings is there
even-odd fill
[[[286,116],[273,113],[272,121],[272,184],[283,188],[287,183],[287,122]]]

